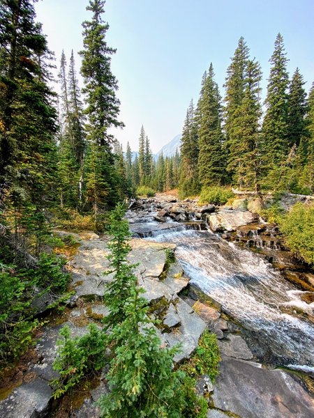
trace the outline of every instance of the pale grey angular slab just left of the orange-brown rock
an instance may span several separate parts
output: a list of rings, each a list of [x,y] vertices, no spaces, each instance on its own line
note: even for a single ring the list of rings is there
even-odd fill
[[[181,352],[174,355],[174,361],[181,362],[188,359],[197,348],[198,340],[206,329],[206,324],[184,300],[179,299],[176,308],[181,319],[181,326],[176,328],[175,332],[161,334],[160,338],[170,347],[181,343]]]

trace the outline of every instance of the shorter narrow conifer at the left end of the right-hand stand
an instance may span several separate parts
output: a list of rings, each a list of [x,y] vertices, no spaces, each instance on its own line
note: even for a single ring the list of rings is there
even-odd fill
[[[193,100],[191,100],[188,110],[186,111],[186,120],[184,122],[181,139],[181,176],[179,191],[182,197],[193,196],[193,194],[197,194],[200,190],[197,167],[199,153],[198,147],[195,110]]]

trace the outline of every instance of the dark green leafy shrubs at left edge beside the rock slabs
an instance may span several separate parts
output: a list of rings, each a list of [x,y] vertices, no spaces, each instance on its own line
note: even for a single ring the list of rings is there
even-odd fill
[[[8,251],[9,252],[9,249]],[[59,304],[70,275],[54,254],[40,254],[37,268],[18,268],[0,258],[0,366],[22,355],[33,342],[38,326],[36,300],[47,295]]]

